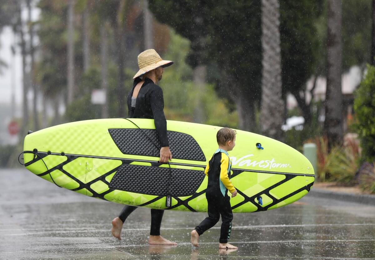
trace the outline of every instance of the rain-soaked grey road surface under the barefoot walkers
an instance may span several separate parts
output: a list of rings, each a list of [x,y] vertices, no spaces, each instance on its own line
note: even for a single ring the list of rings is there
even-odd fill
[[[190,245],[207,213],[166,211],[161,233],[177,246],[149,246],[150,210],[139,208],[119,241],[122,205],[59,188],[26,169],[0,169],[0,259],[375,259],[375,207],[309,197],[280,209],[234,214],[219,251],[220,221]],[[314,187],[312,188],[314,189]]]

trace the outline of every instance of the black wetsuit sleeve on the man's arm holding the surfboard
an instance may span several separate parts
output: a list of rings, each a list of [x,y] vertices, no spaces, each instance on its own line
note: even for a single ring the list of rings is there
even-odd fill
[[[163,91],[159,86],[153,89],[150,95],[151,110],[154,116],[155,129],[162,147],[169,146],[166,135],[166,119],[164,115]]]

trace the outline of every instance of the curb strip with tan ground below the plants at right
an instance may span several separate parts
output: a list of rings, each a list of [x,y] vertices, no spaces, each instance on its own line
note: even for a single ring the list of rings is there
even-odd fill
[[[360,187],[344,187],[335,182],[315,182],[309,196],[375,205],[375,194],[362,192]]]

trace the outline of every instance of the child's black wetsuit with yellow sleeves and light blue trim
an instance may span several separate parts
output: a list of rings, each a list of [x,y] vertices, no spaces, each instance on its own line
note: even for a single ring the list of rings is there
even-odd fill
[[[228,153],[217,149],[209,160],[204,173],[208,176],[206,198],[208,203],[208,217],[195,227],[199,234],[213,227],[221,215],[220,243],[227,243],[231,234],[233,213],[231,209],[229,192],[233,193],[235,188],[229,180],[232,162]]]

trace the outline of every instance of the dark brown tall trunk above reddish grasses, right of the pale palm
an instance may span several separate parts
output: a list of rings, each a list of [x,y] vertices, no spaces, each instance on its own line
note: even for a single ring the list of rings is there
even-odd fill
[[[341,90],[341,0],[328,0],[327,91],[324,132],[329,146],[339,144],[344,135]]]

